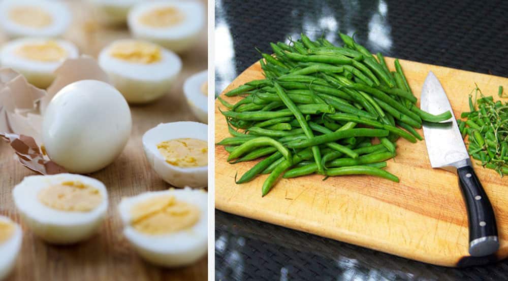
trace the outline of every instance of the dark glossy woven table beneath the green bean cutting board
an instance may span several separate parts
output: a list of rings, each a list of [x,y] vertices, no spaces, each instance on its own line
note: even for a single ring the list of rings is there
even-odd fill
[[[508,77],[508,1],[217,0],[216,93],[255,47],[336,30],[386,56]],[[508,85],[504,85],[508,89]],[[217,280],[506,280],[508,261],[454,269],[215,212]]]

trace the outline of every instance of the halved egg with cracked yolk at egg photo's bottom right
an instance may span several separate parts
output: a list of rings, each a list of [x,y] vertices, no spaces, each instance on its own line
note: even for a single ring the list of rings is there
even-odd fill
[[[207,252],[207,194],[186,188],[123,198],[118,205],[123,234],[149,262],[192,264]]]

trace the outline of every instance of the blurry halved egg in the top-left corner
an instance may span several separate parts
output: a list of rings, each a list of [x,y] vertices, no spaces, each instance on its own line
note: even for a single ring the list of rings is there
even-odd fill
[[[71,11],[61,1],[4,0],[0,25],[11,37],[59,37],[71,24]]]

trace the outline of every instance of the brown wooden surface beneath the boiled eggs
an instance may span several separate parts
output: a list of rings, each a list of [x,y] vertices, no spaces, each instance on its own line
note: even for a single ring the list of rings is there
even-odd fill
[[[207,2],[203,0],[206,4]],[[82,53],[97,56],[115,39],[128,38],[126,27],[106,28],[91,18],[81,1],[73,1],[74,23],[65,38],[78,45]],[[180,55],[183,69],[170,93],[146,106],[131,107],[133,130],[123,153],[110,166],[91,174],[108,188],[109,209],[100,233],[71,246],[44,243],[23,227],[23,244],[16,267],[7,280],[206,280],[207,257],[196,264],[177,269],[162,269],[144,262],[122,235],[122,223],[116,206],[124,196],[145,191],[165,190],[171,186],[157,176],[145,159],[142,134],[161,122],[198,121],[183,96],[183,82],[207,68],[207,32],[200,42]],[[2,42],[7,39],[2,38]],[[12,188],[23,177],[33,175],[13,159],[7,143],[0,142],[0,215],[20,222],[12,201]]]

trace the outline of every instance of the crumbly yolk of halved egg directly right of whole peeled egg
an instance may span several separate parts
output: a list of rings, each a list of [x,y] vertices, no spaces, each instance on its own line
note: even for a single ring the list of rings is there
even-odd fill
[[[201,139],[177,138],[157,145],[166,162],[182,168],[208,165],[208,144]]]

